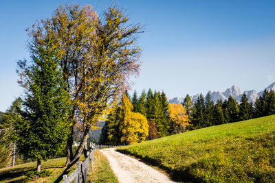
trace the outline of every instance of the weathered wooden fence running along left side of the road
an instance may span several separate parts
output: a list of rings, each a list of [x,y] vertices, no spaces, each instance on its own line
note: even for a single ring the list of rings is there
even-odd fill
[[[114,148],[121,147],[124,145],[96,145],[90,144],[89,151],[87,151],[87,158],[84,162],[76,162],[76,170],[73,171],[71,175],[63,175],[63,181],[61,183],[69,183],[74,181],[74,183],[82,183],[87,182],[87,175],[89,173],[89,164],[91,164],[91,168],[94,164],[94,151],[95,149],[105,149],[105,148]]]

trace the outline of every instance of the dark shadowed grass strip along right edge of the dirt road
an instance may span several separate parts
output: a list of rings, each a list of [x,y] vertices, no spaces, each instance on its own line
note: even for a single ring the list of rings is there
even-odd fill
[[[197,180],[192,173],[190,172],[190,167],[186,167],[186,169],[170,169],[168,167],[164,167],[162,164],[157,162],[157,160],[150,158],[149,156],[139,156],[137,154],[132,154],[131,152],[127,151],[126,149],[115,149],[115,151],[121,152],[123,154],[128,154],[130,156],[135,156],[135,158],[139,158],[141,162],[144,162],[145,164],[159,167],[160,169],[163,169],[170,175],[170,178],[172,178],[175,182],[200,182],[200,180]]]

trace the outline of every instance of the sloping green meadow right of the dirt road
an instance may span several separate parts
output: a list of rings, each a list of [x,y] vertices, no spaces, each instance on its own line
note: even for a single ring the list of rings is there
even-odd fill
[[[275,115],[118,148],[181,182],[275,182]]]

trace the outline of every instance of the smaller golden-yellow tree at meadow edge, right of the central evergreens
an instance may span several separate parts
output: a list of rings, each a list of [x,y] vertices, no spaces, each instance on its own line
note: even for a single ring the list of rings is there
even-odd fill
[[[190,125],[186,110],[181,104],[170,103],[169,104],[169,132],[170,134],[178,134],[185,132],[186,128]]]

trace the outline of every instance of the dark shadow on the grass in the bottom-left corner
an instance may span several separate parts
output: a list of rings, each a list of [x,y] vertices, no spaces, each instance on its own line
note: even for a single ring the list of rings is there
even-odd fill
[[[35,171],[36,169],[30,168],[18,168],[12,170],[6,170],[0,173],[0,181],[9,180],[10,178],[19,178],[22,175],[25,175],[28,171]],[[13,182],[20,182],[20,180],[15,180]]]

